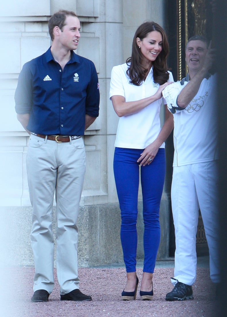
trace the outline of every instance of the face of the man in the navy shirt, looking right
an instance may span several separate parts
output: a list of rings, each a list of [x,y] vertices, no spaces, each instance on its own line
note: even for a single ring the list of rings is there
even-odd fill
[[[67,16],[65,25],[59,29],[59,41],[66,50],[77,49],[80,38],[80,22],[76,16]]]

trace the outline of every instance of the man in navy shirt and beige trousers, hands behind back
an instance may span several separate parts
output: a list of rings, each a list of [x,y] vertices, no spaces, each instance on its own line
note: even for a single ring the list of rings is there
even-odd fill
[[[77,218],[86,165],[82,135],[98,117],[98,76],[92,61],[73,52],[80,38],[74,12],[60,10],[48,27],[52,46],[23,66],[15,93],[17,118],[30,134],[26,162],[35,261],[31,301],[48,301],[54,287],[54,191],[61,300],[91,301],[79,290]]]

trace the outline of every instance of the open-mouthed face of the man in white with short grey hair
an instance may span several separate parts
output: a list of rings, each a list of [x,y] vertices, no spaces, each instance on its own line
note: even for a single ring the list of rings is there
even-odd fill
[[[186,46],[186,63],[188,71],[198,71],[203,67],[205,56],[207,53],[207,44],[200,40],[192,40]]]

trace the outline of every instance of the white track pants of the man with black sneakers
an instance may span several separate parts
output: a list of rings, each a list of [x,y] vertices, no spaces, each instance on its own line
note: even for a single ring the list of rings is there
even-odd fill
[[[196,280],[196,232],[199,208],[210,254],[210,276],[219,282],[217,161],[173,168],[171,189],[176,251],[174,278],[192,285]],[[173,281],[173,285],[176,281]]]

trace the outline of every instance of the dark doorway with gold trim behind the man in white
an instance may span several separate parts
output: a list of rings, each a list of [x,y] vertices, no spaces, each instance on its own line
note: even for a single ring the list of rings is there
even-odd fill
[[[167,8],[167,35],[169,40],[170,54],[168,65],[173,73],[175,81],[186,76],[185,45],[187,40],[194,35],[204,35],[212,38],[212,14],[210,0],[169,0],[166,1]],[[170,193],[173,164],[173,133],[166,141],[167,155],[167,189]],[[175,234],[172,210],[169,219],[169,256],[174,256]],[[199,223],[197,230],[197,255],[208,255],[208,245],[201,213],[199,212]]]

